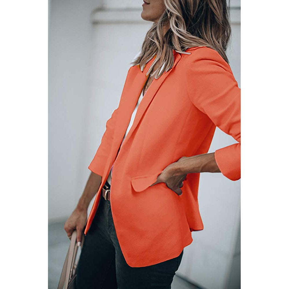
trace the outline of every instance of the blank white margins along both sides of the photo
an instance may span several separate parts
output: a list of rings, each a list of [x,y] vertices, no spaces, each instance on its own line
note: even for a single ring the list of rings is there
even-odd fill
[[[244,288],[287,284],[286,4],[242,2]],[[1,282],[7,288],[47,284],[46,15],[41,1],[1,5]],[[15,278],[19,260],[25,266]]]

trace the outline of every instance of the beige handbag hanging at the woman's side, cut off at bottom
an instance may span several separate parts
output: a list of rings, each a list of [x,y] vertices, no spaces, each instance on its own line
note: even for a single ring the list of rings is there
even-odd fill
[[[66,254],[66,258],[61,271],[58,289],[63,289],[63,286],[64,289],[75,289],[76,267],[83,246],[83,241],[84,235],[82,234],[81,246],[77,247],[76,231],[72,233],[68,252]]]

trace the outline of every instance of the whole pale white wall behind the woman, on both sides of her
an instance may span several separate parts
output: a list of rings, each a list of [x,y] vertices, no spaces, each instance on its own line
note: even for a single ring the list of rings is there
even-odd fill
[[[240,1],[231,1],[229,60],[240,86]],[[117,107],[129,62],[151,23],[142,1],[53,1],[49,38],[49,218],[68,216],[90,173],[105,123]],[[100,5],[100,4],[98,4]],[[90,18],[89,18],[90,17]],[[101,55],[101,57],[99,57]],[[210,151],[235,142],[216,129]],[[193,232],[178,274],[205,288],[238,288],[240,181],[201,174],[203,231]],[[233,266],[232,266],[233,264]],[[231,268],[234,268],[232,271]],[[237,281],[236,281],[237,280]]]

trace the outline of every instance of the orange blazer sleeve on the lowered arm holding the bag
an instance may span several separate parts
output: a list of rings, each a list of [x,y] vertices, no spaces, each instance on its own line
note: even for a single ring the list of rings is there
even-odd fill
[[[116,108],[112,112],[112,116],[106,122],[106,129],[105,129],[105,132],[101,138],[101,143],[97,149],[97,152],[95,153],[95,156],[94,156],[92,162],[88,166],[90,171],[92,171],[93,173],[96,173],[97,175],[100,175],[100,176],[103,176],[104,166],[106,164],[106,160],[107,160],[108,155],[110,153],[115,123],[116,123],[117,112],[118,112],[118,108]]]

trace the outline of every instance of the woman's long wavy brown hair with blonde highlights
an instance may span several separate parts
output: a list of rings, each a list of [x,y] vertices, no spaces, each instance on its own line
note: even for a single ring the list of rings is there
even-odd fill
[[[152,74],[159,78],[164,71],[172,68],[173,49],[189,54],[190,47],[206,46],[216,50],[229,63],[226,56],[231,36],[229,3],[227,0],[164,0],[165,11],[147,32],[138,57],[131,63],[145,64],[156,55],[147,75],[164,53],[158,69]],[[169,29],[163,36],[164,25]]]

